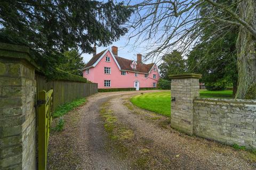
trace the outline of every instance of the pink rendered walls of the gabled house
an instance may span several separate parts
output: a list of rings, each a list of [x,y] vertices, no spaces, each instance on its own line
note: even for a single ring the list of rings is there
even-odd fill
[[[110,62],[105,61],[105,56],[110,57]],[[153,69],[148,75],[148,78],[145,78],[145,74],[138,73],[138,77],[135,77],[134,72],[126,72],[126,75],[121,75],[117,64],[114,61],[113,56],[107,52],[101,61],[90,69],[90,73],[83,73],[83,77],[87,80],[90,80],[94,83],[98,83],[98,88],[134,88],[134,81],[139,81],[140,88],[142,87],[153,87],[153,82],[156,83],[159,80],[159,73]],[[111,67],[111,74],[104,73],[104,67]],[[153,79],[153,74],[156,74],[156,79]],[[104,87],[104,80],[111,80],[111,87]]]

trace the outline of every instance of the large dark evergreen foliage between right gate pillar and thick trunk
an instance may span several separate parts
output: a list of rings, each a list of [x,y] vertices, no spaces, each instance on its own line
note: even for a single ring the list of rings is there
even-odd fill
[[[232,2],[232,0],[225,1],[227,5]],[[225,17],[225,13],[218,13],[218,9],[212,8],[209,4],[204,4],[200,13],[202,16]],[[201,82],[214,84],[227,81],[232,83],[236,89],[238,28],[222,22],[213,24],[209,20],[201,24],[199,29],[203,30],[201,42],[188,55],[188,71],[203,74]]]

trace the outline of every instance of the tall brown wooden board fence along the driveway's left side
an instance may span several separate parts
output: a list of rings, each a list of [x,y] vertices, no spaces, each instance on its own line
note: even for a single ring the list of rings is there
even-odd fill
[[[60,105],[75,99],[84,98],[98,92],[97,83],[85,83],[68,80],[47,81],[44,75],[36,74],[36,99],[39,91],[49,91],[53,88],[53,112]]]

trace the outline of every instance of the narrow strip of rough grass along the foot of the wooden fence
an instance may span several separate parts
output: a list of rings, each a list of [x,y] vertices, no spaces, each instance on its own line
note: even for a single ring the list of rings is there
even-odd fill
[[[85,98],[74,100],[70,103],[66,103],[59,108],[56,109],[56,111],[53,113],[53,117],[60,117],[68,113],[69,111],[72,111],[75,107],[81,106],[86,101]]]

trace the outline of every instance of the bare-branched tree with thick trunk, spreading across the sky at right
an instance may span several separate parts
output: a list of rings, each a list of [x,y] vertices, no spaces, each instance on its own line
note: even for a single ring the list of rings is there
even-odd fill
[[[153,60],[173,49],[186,54],[197,42],[207,41],[201,37],[203,24],[217,24],[218,29],[213,33],[220,30],[225,33],[238,27],[236,98],[244,98],[249,87],[256,83],[256,1],[230,1],[143,0],[130,5],[135,13],[129,25],[132,30],[129,37],[135,38],[135,45],[147,42],[146,48],[150,50],[147,59]],[[212,8],[215,12],[202,17],[199,12],[202,7]]]

